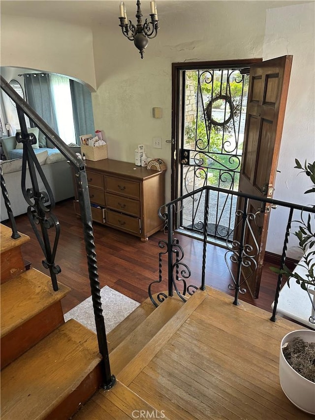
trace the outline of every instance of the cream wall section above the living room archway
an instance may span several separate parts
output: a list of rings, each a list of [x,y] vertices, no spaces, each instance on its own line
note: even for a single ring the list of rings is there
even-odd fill
[[[49,14],[48,14],[49,16]],[[1,66],[64,74],[95,89],[91,29],[1,14]]]

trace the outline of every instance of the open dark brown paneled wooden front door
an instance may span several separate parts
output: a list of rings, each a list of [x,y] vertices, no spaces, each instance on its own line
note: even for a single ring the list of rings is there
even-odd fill
[[[273,196],[292,57],[279,57],[251,66],[239,183],[242,193]],[[239,205],[243,208],[242,200]],[[246,227],[244,240],[253,249],[254,264],[243,267],[243,276],[254,298],[259,293],[270,210],[270,205],[262,206],[260,201],[248,203],[247,213],[255,215],[255,220],[251,228]]]

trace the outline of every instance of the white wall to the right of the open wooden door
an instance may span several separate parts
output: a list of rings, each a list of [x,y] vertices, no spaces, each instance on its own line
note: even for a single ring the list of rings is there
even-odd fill
[[[274,198],[315,204],[315,194],[304,194],[312,186],[310,179],[294,169],[295,158],[304,163],[315,161],[315,4],[305,3],[267,10],[263,59],[293,55],[284,129],[279,156]],[[270,218],[267,250],[282,253],[279,242],[285,228],[287,212],[273,210]],[[299,219],[296,214],[295,219]],[[292,226],[297,226],[293,224]],[[295,231],[293,229],[293,231]],[[290,241],[288,257],[296,258],[299,250]]]

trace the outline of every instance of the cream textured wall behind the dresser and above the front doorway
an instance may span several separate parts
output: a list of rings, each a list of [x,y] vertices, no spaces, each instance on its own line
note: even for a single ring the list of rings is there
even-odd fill
[[[149,157],[167,163],[166,201],[171,196],[171,146],[165,140],[171,138],[172,63],[261,57],[265,31],[265,10],[259,1],[180,3],[175,15],[163,15],[160,4],[161,29],[149,41],[143,60],[121,33],[115,32],[104,50],[109,32],[103,26],[93,32],[95,128],[104,130],[112,159],[134,162],[140,143]],[[193,3],[194,13],[188,14]],[[161,119],[152,117],[153,107],[162,108]],[[162,138],[162,149],[153,149],[153,137]]]

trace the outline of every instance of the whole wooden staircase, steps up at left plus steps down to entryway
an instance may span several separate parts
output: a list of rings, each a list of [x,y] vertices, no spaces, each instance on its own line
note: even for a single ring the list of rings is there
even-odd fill
[[[30,238],[21,234],[13,240],[11,229],[3,225],[0,236],[1,419],[69,419],[102,382],[96,335],[74,320],[64,323],[61,299],[69,288],[58,283],[55,292],[48,276],[25,269],[21,245]],[[147,299],[108,334],[116,372],[132,365],[183,305],[178,298],[165,303],[164,311],[155,310]],[[119,380],[110,391],[95,394],[96,400],[99,397],[96,406],[94,399],[90,405],[96,411],[101,407],[102,420],[132,418],[139,407],[158,413]],[[88,418],[90,405],[84,408],[83,418]]]

